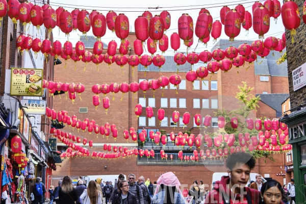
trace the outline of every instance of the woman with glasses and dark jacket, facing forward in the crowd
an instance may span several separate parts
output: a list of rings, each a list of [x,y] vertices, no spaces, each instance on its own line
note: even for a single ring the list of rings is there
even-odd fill
[[[129,192],[130,185],[125,180],[119,180],[118,191],[119,193],[114,195],[112,204],[134,204],[137,203],[136,196]]]

